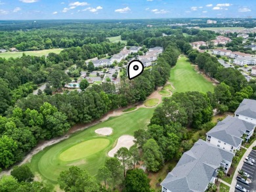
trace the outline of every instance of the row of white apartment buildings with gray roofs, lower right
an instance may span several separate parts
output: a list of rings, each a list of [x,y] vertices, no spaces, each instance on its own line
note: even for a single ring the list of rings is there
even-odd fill
[[[205,191],[215,183],[217,172],[228,172],[234,151],[249,140],[256,126],[256,100],[244,99],[234,117],[228,116],[198,140],[161,182],[162,192]]]

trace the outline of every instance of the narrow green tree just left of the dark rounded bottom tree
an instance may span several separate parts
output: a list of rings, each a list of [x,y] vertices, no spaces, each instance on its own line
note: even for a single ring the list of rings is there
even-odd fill
[[[106,160],[105,166],[110,170],[110,183],[114,188],[122,182],[123,167],[116,157]]]

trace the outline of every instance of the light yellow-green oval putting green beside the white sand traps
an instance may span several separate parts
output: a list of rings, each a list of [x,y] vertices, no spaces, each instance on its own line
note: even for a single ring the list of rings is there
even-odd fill
[[[62,161],[74,161],[83,157],[88,157],[97,153],[98,151],[105,149],[110,144],[110,140],[107,139],[94,139],[81,144],[74,145],[66,151],[60,153],[60,160]]]

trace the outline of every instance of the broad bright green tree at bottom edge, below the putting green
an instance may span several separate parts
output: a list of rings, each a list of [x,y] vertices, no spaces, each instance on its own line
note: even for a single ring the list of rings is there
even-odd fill
[[[81,170],[76,166],[60,172],[58,183],[60,189],[64,191],[97,191],[99,189],[95,178],[90,176],[86,170]]]

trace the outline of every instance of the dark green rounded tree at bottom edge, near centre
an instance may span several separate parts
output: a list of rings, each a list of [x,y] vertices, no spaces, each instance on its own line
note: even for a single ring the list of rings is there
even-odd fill
[[[124,181],[124,192],[148,192],[150,191],[150,179],[142,169],[127,170]]]

